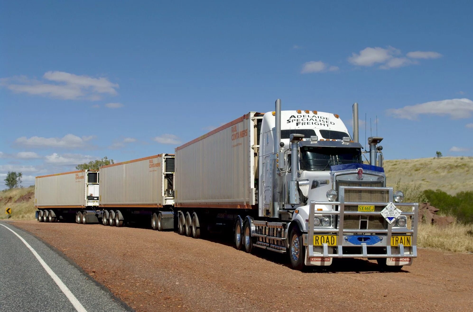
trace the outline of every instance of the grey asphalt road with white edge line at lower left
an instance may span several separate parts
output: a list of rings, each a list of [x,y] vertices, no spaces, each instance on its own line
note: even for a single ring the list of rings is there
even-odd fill
[[[4,226],[23,237],[53,273]],[[132,311],[77,265],[7,222],[0,222],[0,310]]]

